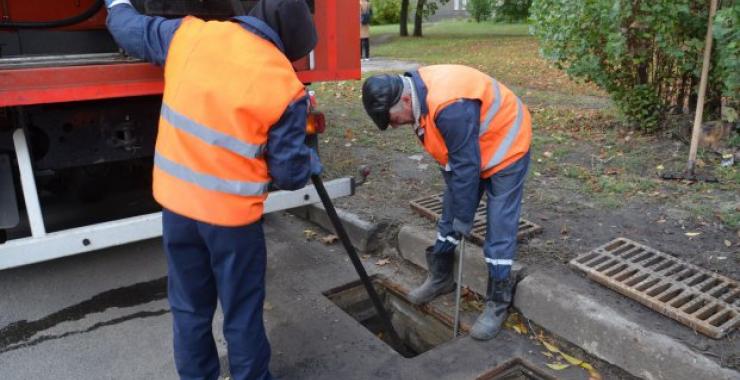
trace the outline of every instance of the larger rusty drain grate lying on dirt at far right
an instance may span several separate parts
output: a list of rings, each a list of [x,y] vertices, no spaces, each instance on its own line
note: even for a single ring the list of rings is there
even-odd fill
[[[618,238],[570,261],[592,280],[715,339],[740,324],[740,287],[673,256]]]

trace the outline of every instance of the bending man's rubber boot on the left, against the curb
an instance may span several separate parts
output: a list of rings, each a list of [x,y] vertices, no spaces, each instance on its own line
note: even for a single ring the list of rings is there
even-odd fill
[[[429,267],[426,281],[409,293],[409,301],[414,305],[427,303],[437,296],[455,290],[455,278],[452,275],[454,251],[432,253],[432,248],[429,247],[426,251]]]

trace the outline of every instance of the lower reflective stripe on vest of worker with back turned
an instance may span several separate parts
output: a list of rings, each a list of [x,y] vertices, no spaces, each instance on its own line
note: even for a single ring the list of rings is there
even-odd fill
[[[267,192],[267,183],[230,181],[208,174],[197,173],[183,165],[168,160],[159,154],[159,152],[154,152],[154,165],[175,178],[196,184],[207,190],[241,196],[257,196]]]

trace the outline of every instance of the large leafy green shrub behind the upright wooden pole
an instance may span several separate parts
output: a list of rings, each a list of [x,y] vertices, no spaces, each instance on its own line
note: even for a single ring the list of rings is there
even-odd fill
[[[708,2],[534,0],[531,18],[545,57],[605,89],[629,121],[653,131],[668,110],[695,105]],[[723,95],[737,102],[740,5],[724,4],[705,108],[712,116]]]

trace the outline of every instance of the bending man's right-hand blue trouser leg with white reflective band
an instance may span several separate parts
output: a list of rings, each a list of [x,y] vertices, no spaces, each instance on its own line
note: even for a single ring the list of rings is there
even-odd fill
[[[488,197],[483,252],[491,278],[496,281],[509,277],[516,257],[519,214],[528,168],[529,153],[483,181]]]

